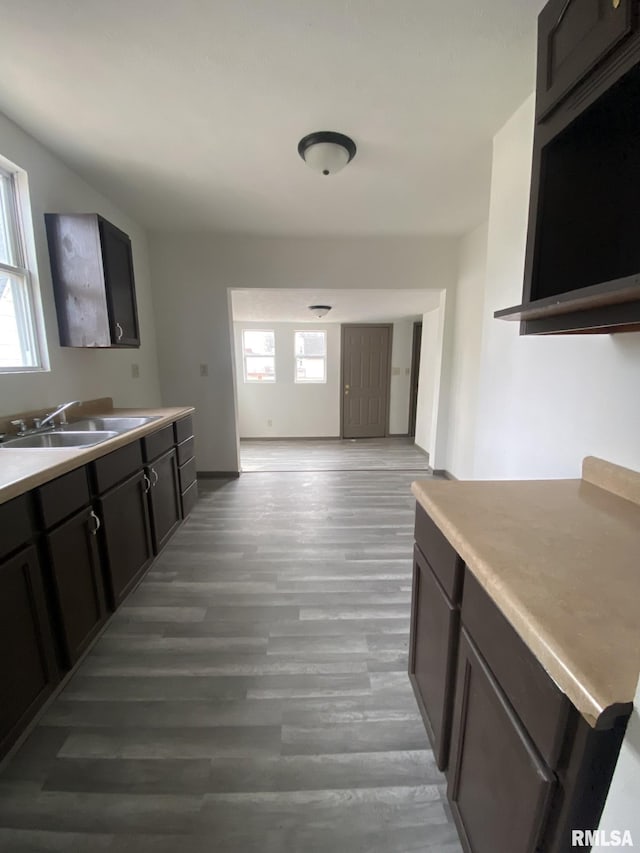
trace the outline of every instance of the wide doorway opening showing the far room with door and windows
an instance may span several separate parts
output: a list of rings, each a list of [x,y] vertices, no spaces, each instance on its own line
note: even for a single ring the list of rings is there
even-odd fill
[[[242,472],[427,468],[441,362],[420,370],[416,324],[441,291],[230,288],[229,302]]]

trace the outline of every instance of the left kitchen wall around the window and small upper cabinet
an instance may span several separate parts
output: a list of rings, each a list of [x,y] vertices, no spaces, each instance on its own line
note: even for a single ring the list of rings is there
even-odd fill
[[[28,173],[38,278],[51,370],[0,374],[0,413],[55,406],[63,400],[113,397],[120,406],[160,403],[151,280],[144,231],[33,137],[0,114],[0,155]],[[100,213],[125,231],[133,247],[140,349],[61,347],[58,338],[44,213]],[[140,367],[133,379],[131,365]]]

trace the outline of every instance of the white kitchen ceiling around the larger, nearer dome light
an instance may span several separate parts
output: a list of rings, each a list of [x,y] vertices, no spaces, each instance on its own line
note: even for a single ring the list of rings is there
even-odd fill
[[[461,233],[544,0],[2,0],[0,109],[156,229]],[[323,178],[298,140],[337,130]]]

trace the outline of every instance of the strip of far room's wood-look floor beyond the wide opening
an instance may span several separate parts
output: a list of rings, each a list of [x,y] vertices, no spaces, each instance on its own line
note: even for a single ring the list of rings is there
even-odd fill
[[[243,471],[419,471],[427,454],[412,438],[331,438],[321,441],[242,439]]]

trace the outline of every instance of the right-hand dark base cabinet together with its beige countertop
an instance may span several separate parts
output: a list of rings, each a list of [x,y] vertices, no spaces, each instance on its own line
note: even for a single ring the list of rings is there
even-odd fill
[[[580,481],[413,491],[409,669],[462,845],[569,853],[598,826],[640,671],[640,475],[587,459]],[[433,571],[445,546],[464,563],[458,630]]]

